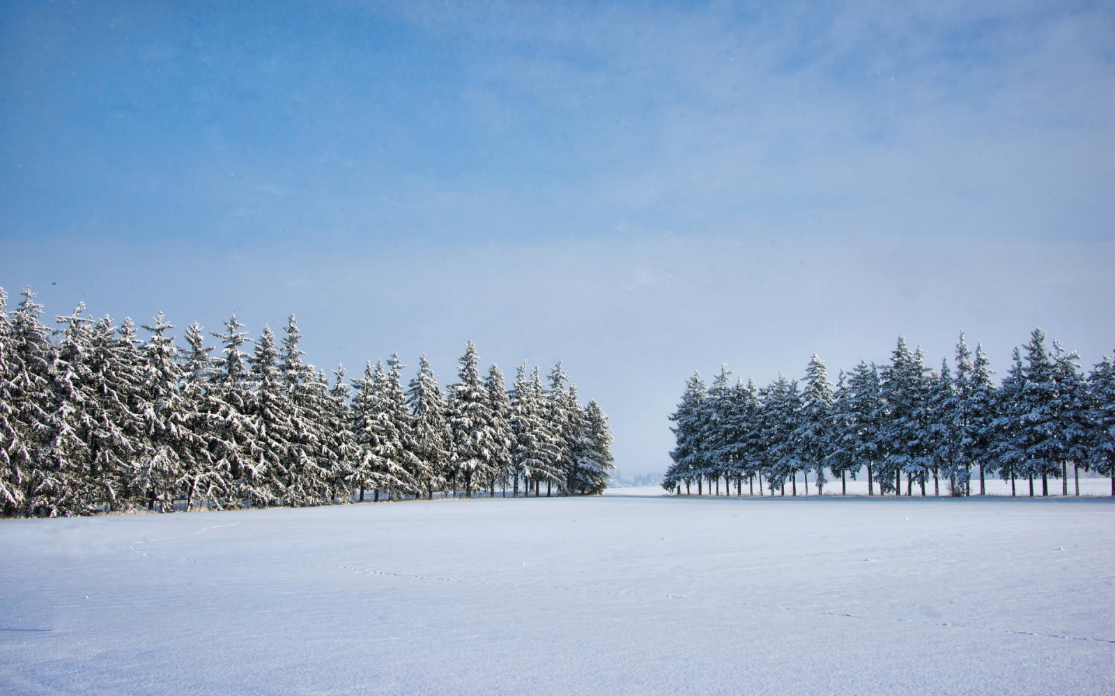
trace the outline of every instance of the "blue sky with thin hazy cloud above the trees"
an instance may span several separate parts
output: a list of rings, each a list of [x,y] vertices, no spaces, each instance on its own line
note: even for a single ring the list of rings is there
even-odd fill
[[[631,472],[720,361],[1115,346],[1106,3],[229,6],[0,9],[9,294],[563,357]]]

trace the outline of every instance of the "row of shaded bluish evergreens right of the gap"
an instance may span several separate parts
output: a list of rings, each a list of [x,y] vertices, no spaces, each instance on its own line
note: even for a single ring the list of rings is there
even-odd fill
[[[662,482],[670,491],[688,493],[705,484],[744,482],[754,493],[764,487],[797,494],[797,476],[806,484],[812,473],[823,492],[830,476],[846,480],[861,472],[874,494],[913,493],[917,483],[925,494],[932,477],[933,493],[941,480],[952,496],[979,493],[986,478],[1041,483],[1060,479],[1068,494],[1068,467],[1079,494],[1079,470],[1112,478],[1115,496],[1115,366],[1105,357],[1085,376],[1075,352],[1056,341],[1053,350],[1035,329],[1025,346],[1015,349],[1014,364],[1000,384],[992,380],[987,356],[977,345],[972,355],[963,334],[956,349],[954,367],[947,360],[940,371],[924,364],[919,347],[911,351],[903,337],[890,364],[860,362],[850,373],[841,371],[836,384],[815,354],[802,386],[779,375],[762,389],[755,382],[731,385],[726,366],[707,388],[699,374],[686,385],[671,420],[677,447],[673,463]]]

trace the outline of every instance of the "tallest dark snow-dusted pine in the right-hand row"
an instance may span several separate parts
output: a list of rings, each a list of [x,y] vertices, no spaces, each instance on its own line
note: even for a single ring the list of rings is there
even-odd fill
[[[1022,367],[1022,401],[1026,411],[1021,415],[1022,435],[1026,448],[1025,473],[1030,479],[1030,496],[1034,494],[1034,478],[1041,478],[1041,494],[1049,494],[1049,477],[1060,474],[1059,442],[1057,440],[1057,381],[1049,351],[1045,346],[1045,332],[1035,329],[1026,344],[1026,364]]]

